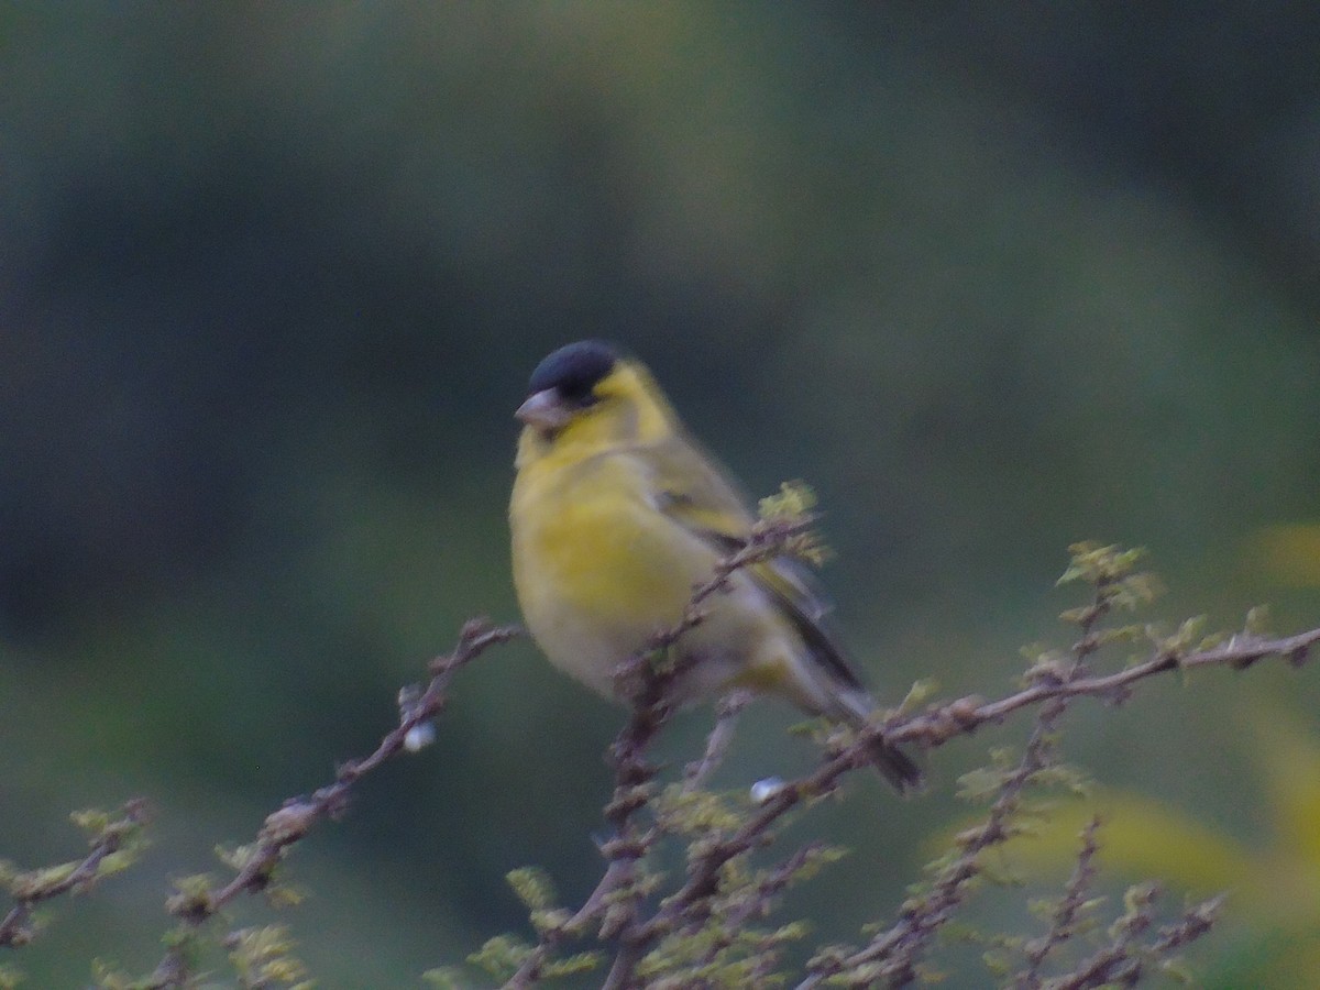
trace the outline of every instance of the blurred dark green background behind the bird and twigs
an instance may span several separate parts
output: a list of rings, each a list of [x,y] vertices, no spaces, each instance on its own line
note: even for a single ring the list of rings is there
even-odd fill
[[[150,969],[169,878],[374,746],[465,618],[516,618],[511,412],[581,337],[748,491],[816,487],[884,698],[1011,689],[1065,642],[1078,539],[1150,546],[1171,620],[1320,623],[1316,65],[1287,3],[5,4],[0,857],[158,810],[13,961]],[[1311,985],[1317,702],[1280,665],[1065,722],[1110,788],[1300,878],[1230,899],[1210,985]],[[620,719],[528,644],[463,672],[438,743],[293,857],[322,985],[523,931],[515,866],[581,898]],[[791,721],[758,706],[723,783],[809,766]],[[957,775],[1023,731],[804,828],[857,850],[792,900],[817,941],[892,915]]]

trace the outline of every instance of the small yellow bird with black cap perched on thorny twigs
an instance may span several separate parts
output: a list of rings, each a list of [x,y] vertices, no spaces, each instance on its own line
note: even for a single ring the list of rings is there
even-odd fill
[[[549,661],[627,704],[620,671],[675,628],[693,591],[744,545],[756,516],[688,433],[649,371],[616,345],[569,343],[532,372],[515,412],[513,587]],[[737,689],[861,729],[875,710],[808,568],[775,557],[734,570],[677,651],[676,706]],[[871,763],[900,792],[923,783],[876,739]]]

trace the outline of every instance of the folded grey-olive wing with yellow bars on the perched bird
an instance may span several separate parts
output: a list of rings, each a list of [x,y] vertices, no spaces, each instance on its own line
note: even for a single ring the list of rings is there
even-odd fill
[[[653,471],[653,498],[661,512],[721,557],[743,546],[754,516],[709,454],[690,438],[673,436],[648,444],[644,461]],[[746,573],[792,623],[825,672],[840,685],[865,693],[829,622],[830,603],[814,576],[788,557],[752,565]]]

